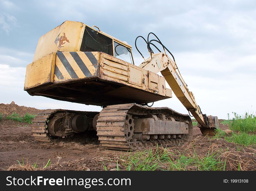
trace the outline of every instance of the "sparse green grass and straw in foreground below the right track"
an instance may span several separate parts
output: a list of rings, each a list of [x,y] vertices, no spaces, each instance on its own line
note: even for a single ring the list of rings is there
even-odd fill
[[[121,156],[119,161],[126,170],[222,170],[224,163],[215,154],[186,156],[178,155],[167,148],[157,147],[156,150],[140,151]],[[104,169],[106,167],[104,165]]]

